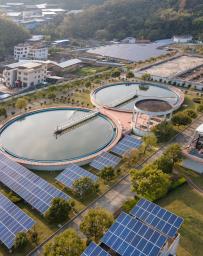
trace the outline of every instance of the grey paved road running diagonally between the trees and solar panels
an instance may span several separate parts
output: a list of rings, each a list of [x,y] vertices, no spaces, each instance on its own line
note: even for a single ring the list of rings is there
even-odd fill
[[[176,138],[173,141],[171,141],[169,144],[179,143],[183,147],[186,146],[187,143],[190,141],[191,136],[193,136],[195,129],[202,123],[203,123],[203,115],[200,118],[196,119],[190,127],[187,127],[184,132],[182,132],[181,134],[178,134]],[[163,154],[167,146],[168,145],[158,150],[153,156],[149,157],[143,164],[150,163],[155,159],[157,159],[159,156]],[[130,189],[130,176],[127,175],[119,183],[117,183],[112,189],[110,189],[102,197],[100,197],[98,200],[92,203],[92,205],[89,208],[104,207],[110,210],[111,212],[116,212],[118,209],[120,209],[123,202],[126,201],[129,197],[132,197],[133,195],[134,194],[131,192],[131,189]],[[57,234],[61,233],[62,231],[64,231],[64,229],[67,229],[69,227],[73,227],[79,231],[79,224],[82,220],[82,217],[88,212],[89,208],[87,208],[81,214],[76,216],[76,218],[73,221],[65,225],[65,227],[59,230]],[[46,241],[46,243],[47,242],[48,240]],[[31,252],[28,255],[29,256],[40,255],[41,250],[42,250],[42,246],[39,246],[37,250]]]

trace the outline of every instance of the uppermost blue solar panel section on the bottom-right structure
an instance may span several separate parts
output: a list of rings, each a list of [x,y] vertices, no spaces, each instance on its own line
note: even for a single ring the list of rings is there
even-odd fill
[[[141,199],[130,214],[155,227],[170,238],[176,236],[183,223],[181,217],[145,199]]]

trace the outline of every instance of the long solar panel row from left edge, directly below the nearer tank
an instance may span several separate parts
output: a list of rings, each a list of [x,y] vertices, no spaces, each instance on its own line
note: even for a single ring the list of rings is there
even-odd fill
[[[44,214],[54,198],[70,197],[27,168],[0,153],[0,182]]]

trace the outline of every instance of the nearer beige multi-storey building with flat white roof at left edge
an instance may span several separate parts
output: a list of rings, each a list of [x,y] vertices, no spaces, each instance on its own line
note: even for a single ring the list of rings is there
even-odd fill
[[[9,88],[31,87],[46,81],[47,64],[37,61],[20,61],[5,66],[3,79]]]

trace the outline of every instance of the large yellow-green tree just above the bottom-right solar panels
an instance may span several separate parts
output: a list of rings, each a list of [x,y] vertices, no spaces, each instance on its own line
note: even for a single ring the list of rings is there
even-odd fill
[[[132,189],[139,197],[155,201],[166,195],[170,184],[170,176],[154,166],[131,171]]]

